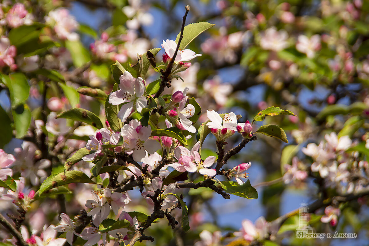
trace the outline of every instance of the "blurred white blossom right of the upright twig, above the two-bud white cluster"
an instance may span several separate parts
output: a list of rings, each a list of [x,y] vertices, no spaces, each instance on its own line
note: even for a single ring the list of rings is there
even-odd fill
[[[224,106],[224,104],[227,103],[228,95],[233,90],[231,84],[222,83],[220,76],[214,76],[213,79],[205,80],[203,88],[220,106]]]

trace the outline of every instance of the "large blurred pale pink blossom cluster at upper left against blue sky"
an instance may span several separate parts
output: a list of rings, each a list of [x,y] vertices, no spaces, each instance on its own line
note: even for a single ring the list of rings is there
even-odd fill
[[[45,20],[46,23],[54,27],[54,31],[59,38],[68,39],[69,41],[79,39],[79,35],[75,32],[79,28],[79,24],[66,8],[51,10]]]

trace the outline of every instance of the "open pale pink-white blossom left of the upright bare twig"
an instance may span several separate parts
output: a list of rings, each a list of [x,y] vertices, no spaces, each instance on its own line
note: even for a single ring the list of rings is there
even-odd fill
[[[121,121],[126,121],[131,114],[133,106],[135,105],[138,112],[147,106],[145,93],[144,79],[138,77],[135,79],[130,72],[125,71],[119,78],[120,90],[113,91],[109,96],[109,103],[113,105],[122,105],[118,112],[118,118]]]

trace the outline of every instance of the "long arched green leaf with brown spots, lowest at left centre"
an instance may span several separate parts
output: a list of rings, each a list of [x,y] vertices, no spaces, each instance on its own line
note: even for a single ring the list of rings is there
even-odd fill
[[[42,193],[51,188],[63,186],[65,184],[70,183],[94,184],[95,182],[90,180],[89,176],[87,176],[82,171],[71,170],[66,171],[65,173],[61,172],[59,174],[52,174],[51,176],[46,178],[44,182],[42,182],[40,188],[38,189],[38,194],[41,195]]]

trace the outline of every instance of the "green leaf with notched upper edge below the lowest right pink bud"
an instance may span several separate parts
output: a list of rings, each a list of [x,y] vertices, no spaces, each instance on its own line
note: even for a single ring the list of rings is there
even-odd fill
[[[235,181],[221,181],[220,186],[227,193],[247,199],[258,199],[258,192],[251,186],[250,180],[247,180],[246,183],[242,185],[239,185]]]

